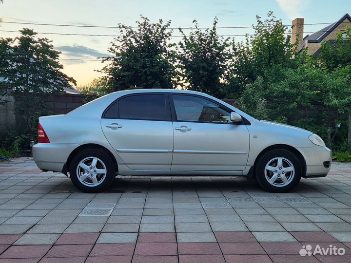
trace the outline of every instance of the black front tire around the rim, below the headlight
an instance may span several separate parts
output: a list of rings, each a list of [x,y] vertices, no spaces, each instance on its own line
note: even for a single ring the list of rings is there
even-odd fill
[[[285,173],[285,178],[287,178],[287,183],[284,183],[282,180],[283,174],[280,174],[279,167],[276,168],[274,171],[266,171],[266,165],[270,165],[271,167],[275,168],[274,164],[275,162],[274,158],[282,157],[283,159],[283,166],[282,169],[287,168],[287,167],[293,167],[294,172],[284,172]],[[272,161],[273,160],[273,161]],[[271,162],[272,161],[272,162]],[[283,149],[276,149],[276,150],[269,150],[266,153],[264,153],[262,156],[259,157],[259,159],[256,162],[255,168],[254,168],[254,175],[257,178],[258,184],[265,189],[266,191],[269,192],[275,192],[275,193],[285,193],[289,192],[292,190],[292,188],[296,187],[296,185],[300,182],[301,176],[302,176],[303,170],[301,163],[299,159],[296,157],[295,154],[293,154],[289,150],[283,150]],[[267,177],[266,177],[267,174]],[[273,175],[275,174],[276,180],[271,184],[268,179],[273,180]],[[290,178],[290,176],[292,176]]]

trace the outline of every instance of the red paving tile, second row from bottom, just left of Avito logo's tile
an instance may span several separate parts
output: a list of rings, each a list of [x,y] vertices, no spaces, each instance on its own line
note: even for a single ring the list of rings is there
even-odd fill
[[[223,254],[241,254],[241,255],[260,255],[266,254],[261,245],[256,242],[241,242],[241,243],[219,243]]]

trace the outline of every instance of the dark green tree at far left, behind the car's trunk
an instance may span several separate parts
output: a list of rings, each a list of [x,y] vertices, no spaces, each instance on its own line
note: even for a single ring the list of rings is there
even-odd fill
[[[0,38],[0,78],[2,93],[16,99],[16,126],[33,140],[38,117],[48,113],[44,98],[76,81],[60,71],[60,52],[49,39],[36,38],[31,29],[20,33],[17,38]]]

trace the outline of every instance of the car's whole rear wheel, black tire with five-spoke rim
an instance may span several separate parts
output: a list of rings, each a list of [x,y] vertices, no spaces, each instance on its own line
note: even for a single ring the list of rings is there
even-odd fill
[[[115,165],[106,152],[87,149],[73,157],[69,172],[73,184],[79,190],[94,193],[111,185],[115,177]]]

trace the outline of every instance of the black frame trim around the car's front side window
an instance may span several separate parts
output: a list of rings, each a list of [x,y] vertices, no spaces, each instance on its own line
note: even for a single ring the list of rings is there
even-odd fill
[[[229,112],[229,113],[232,113],[232,112],[235,112],[233,111],[232,109],[228,108],[227,106],[211,99],[211,98],[208,98],[208,97],[204,97],[204,96],[201,96],[201,95],[198,95],[198,94],[185,94],[185,93],[175,93],[175,92],[170,92],[168,93],[169,95],[169,103],[170,103],[170,107],[171,107],[171,115],[172,115],[172,121],[173,122],[189,122],[189,123],[208,123],[208,124],[226,124],[226,125],[251,125],[250,121],[248,121],[245,117],[243,117],[241,114],[241,122],[237,122],[237,123],[234,123],[234,122],[231,122],[231,123],[224,123],[224,122],[205,122],[205,121],[191,121],[191,120],[178,120],[177,119],[177,116],[176,116],[176,107],[174,105],[174,101],[173,101],[173,95],[181,95],[181,96],[191,96],[191,97],[198,97],[198,98],[202,98],[202,99],[205,99],[205,100],[208,100],[216,105],[218,105],[220,108],[224,109],[225,111]]]

